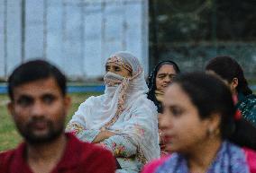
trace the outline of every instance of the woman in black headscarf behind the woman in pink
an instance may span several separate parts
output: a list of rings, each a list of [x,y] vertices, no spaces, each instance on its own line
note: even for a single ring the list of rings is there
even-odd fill
[[[148,99],[151,99],[155,105],[158,107],[159,118],[162,114],[162,99],[164,95],[164,90],[168,87],[169,83],[173,81],[175,76],[179,74],[178,65],[170,60],[161,61],[156,65],[151,72],[148,79],[148,87],[150,91],[148,92]],[[164,157],[168,154],[165,150],[164,139],[160,135],[160,156]]]

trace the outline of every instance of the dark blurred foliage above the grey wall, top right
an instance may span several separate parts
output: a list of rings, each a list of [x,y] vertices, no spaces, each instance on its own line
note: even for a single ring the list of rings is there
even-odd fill
[[[255,0],[151,1],[160,42],[255,40]]]

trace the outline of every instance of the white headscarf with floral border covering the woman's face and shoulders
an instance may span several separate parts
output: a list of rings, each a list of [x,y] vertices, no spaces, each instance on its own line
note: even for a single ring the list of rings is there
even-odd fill
[[[105,93],[88,98],[75,115],[83,115],[87,129],[106,128],[127,136],[146,161],[159,158],[157,108],[147,99],[149,89],[142,65],[128,52],[117,52],[107,59],[108,62],[132,68],[133,76],[105,74]],[[116,82],[120,84],[114,84]]]

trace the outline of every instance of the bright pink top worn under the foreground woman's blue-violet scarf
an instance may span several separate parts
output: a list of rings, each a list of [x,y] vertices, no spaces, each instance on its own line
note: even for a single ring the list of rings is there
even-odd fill
[[[248,148],[242,148],[242,149],[245,153],[245,157],[246,157],[248,167],[249,167],[251,173],[256,173],[256,151],[252,151],[251,149],[248,149]],[[142,173],[154,173],[156,171],[156,169],[158,169],[158,167],[165,160],[168,160],[168,159],[169,159],[169,156],[160,158],[158,160],[151,161],[149,164],[147,164],[142,169]]]

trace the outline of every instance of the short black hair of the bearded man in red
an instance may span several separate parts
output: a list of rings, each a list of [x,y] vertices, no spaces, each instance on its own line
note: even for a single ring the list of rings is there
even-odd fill
[[[8,94],[14,99],[14,88],[27,82],[53,77],[63,96],[66,95],[66,77],[59,69],[44,60],[32,60],[19,65],[8,79]]]

